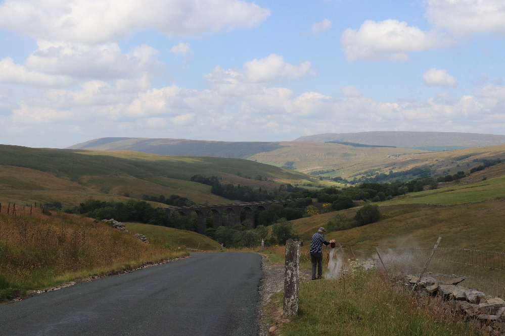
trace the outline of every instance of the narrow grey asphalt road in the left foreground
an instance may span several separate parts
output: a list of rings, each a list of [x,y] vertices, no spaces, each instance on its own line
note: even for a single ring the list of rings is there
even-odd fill
[[[256,335],[261,256],[202,253],[0,306],[0,335]]]

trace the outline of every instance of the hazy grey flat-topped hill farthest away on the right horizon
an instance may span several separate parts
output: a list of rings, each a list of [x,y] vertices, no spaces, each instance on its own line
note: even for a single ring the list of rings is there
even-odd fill
[[[505,135],[458,132],[357,132],[325,133],[299,137],[294,141],[345,141],[367,145],[388,145],[432,151],[505,144]]]

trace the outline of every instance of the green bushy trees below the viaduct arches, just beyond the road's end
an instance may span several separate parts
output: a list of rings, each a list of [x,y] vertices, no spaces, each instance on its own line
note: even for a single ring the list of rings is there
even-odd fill
[[[205,235],[228,248],[257,247],[262,239],[265,240],[266,246],[284,245],[290,238],[298,239],[294,234],[293,223],[286,218],[281,218],[272,225],[270,236],[268,229],[262,225],[252,230],[246,230],[242,225],[236,225],[232,229],[225,226],[217,229],[209,228],[205,230]]]

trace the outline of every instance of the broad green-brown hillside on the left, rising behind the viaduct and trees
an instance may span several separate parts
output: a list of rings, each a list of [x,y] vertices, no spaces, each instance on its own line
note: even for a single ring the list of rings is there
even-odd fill
[[[238,177],[261,175],[269,181]],[[0,200],[30,204],[61,201],[76,205],[89,197],[126,201],[144,194],[187,197],[197,203],[229,203],[210,186],[189,181],[193,175],[218,176],[223,182],[264,189],[296,184],[307,175],[243,159],[177,157],[140,152],[38,149],[0,145]],[[316,180],[313,179],[315,182]],[[156,206],[164,204],[153,203]]]

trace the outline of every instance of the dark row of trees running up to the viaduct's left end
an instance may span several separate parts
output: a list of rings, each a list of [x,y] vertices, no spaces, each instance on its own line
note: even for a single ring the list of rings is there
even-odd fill
[[[170,216],[162,208],[155,208],[146,201],[128,200],[126,203],[88,199],[77,206],[66,208],[66,213],[83,214],[87,217],[136,221],[169,228],[197,231],[196,218],[184,217],[177,213]]]

